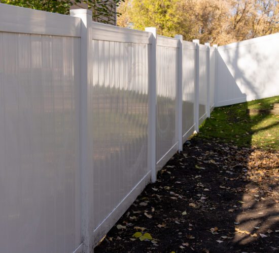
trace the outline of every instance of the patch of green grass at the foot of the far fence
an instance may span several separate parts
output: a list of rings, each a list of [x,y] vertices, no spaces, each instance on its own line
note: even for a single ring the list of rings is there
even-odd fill
[[[279,96],[215,108],[197,138],[219,138],[239,147],[279,150],[279,115],[249,116],[247,109],[271,109]]]

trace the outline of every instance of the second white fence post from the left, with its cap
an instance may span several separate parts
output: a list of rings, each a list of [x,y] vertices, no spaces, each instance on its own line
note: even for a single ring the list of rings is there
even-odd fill
[[[151,52],[149,58],[149,84],[148,84],[148,162],[151,170],[151,182],[156,182],[156,28],[146,27],[146,31],[152,33]]]

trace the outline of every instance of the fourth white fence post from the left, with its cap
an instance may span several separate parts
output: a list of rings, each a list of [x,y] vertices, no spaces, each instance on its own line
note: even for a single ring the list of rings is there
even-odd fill
[[[199,132],[199,39],[193,39],[193,43],[196,44],[196,59],[195,59],[195,131]]]

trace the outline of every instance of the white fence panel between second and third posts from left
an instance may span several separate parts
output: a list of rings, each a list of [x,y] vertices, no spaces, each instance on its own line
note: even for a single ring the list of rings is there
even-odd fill
[[[157,170],[178,150],[178,52],[179,40],[157,36]]]

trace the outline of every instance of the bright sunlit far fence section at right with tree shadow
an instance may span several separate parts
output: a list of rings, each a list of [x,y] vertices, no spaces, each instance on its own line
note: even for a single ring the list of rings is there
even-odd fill
[[[279,33],[218,47],[217,106],[279,95]]]

